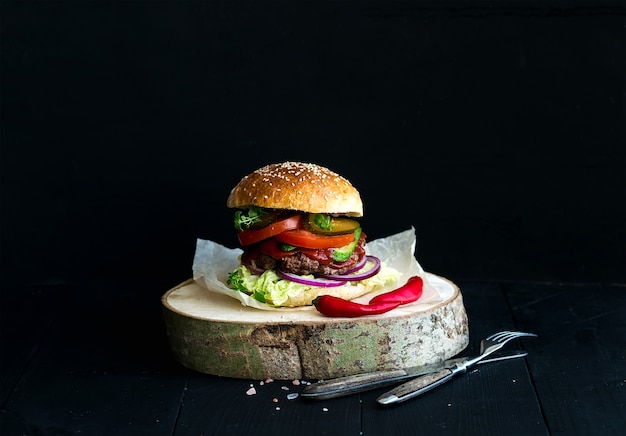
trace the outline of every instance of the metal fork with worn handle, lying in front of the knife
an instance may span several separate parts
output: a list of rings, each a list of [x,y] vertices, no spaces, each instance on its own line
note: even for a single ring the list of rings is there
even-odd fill
[[[534,333],[511,331],[494,333],[480,341],[480,354],[478,356],[465,359],[452,368],[444,368],[432,374],[417,377],[381,395],[376,401],[382,405],[389,405],[417,397],[451,380],[455,375],[465,373],[468,368],[498,351],[504,347],[507,342],[521,337],[537,337],[537,335]]]

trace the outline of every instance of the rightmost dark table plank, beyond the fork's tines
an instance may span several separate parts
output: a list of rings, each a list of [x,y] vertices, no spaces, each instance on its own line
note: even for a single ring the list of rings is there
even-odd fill
[[[515,285],[516,325],[553,434],[623,434],[626,429],[626,288]]]

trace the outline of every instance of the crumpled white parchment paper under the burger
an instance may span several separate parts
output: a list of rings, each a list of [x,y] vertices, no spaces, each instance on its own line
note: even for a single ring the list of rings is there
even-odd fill
[[[433,304],[443,301],[444,296],[441,295],[438,287],[432,286],[428,282],[424,270],[415,258],[416,243],[413,227],[395,235],[367,242],[365,246],[367,254],[378,257],[386,266],[399,271],[401,276],[397,282],[355,298],[354,301],[367,303],[375,295],[396,289],[404,284],[409,277],[415,275],[419,275],[424,280],[424,291],[416,303]],[[270,306],[243,292],[229,288],[226,285],[228,274],[240,265],[239,256],[242,252],[240,248],[227,248],[213,241],[198,239],[193,262],[194,280],[208,291],[235,298],[244,306],[263,310],[315,310],[312,306],[297,308]]]

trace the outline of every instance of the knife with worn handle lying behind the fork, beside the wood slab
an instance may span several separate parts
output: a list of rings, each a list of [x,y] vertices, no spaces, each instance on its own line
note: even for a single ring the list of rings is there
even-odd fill
[[[497,362],[499,360],[516,359],[524,357],[528,353],[525,351],[514,351],[512,353],[496,355],[478,362],[478,364]],[[300,396],[311,400],[327,400],[329,398],[342,397],[344,395],[365,392],[383,386],[389,386],[397,381],[402,381],[412,377],[419,377],[438,371],[454,368],[457,364],[467,360],[467,357],[457,357],[443,362],[429,365],[414,366],[404,369],[391,369],[382,371],[366,372],[362,374],[338,377],[305,386]]]

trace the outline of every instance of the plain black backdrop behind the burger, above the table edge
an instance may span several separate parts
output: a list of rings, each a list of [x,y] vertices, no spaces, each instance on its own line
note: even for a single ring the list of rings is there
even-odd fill
[[[626,281],[621,2],[2,2],[2,282],[191,276],[329,166],[454,280]],[[146,289],[150,289],[148,286]]]

